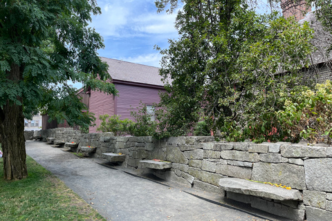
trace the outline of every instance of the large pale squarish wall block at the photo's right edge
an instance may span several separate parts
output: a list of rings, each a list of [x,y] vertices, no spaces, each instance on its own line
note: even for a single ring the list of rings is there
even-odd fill
[[[304,160],[306,186],[309,190],[332,192],[332,159]]]

